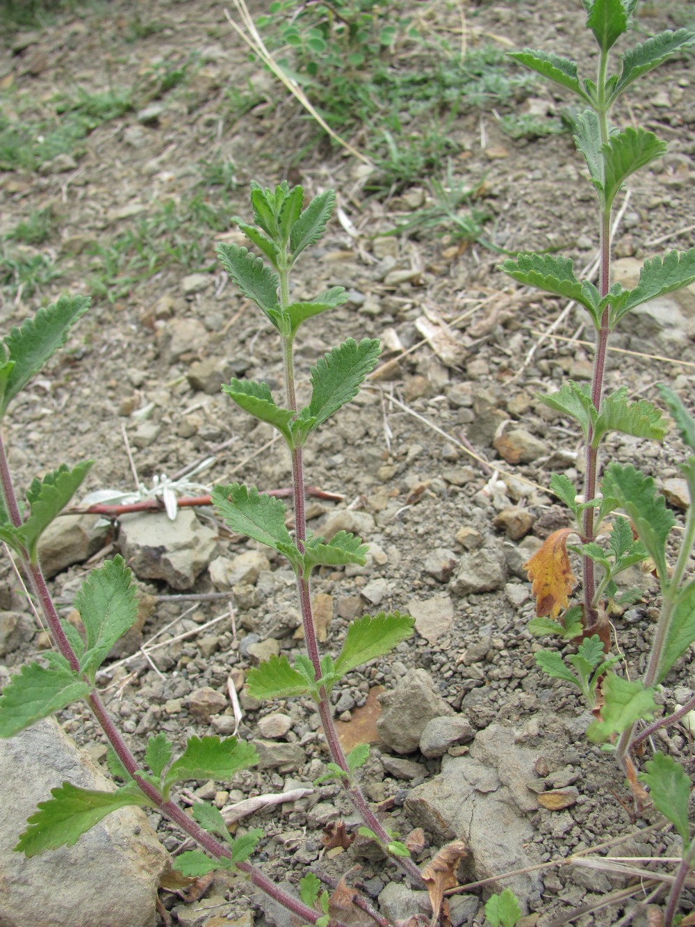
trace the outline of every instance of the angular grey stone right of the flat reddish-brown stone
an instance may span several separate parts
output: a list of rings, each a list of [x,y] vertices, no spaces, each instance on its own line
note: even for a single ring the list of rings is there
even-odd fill
[[[384,743],[398,754],[414,753],[425,725],[433,717],[453,715],[453,708],[434,691],[424,669],[411,669],[398,680],[393,692],[379,696],[384,706],[376,730]]]

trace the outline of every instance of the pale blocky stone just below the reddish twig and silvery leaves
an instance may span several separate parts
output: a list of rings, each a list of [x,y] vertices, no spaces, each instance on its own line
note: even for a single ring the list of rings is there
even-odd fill
[[[214,557],[217,535],[191,509],[179,509],[175,521],[165,512],[133,514],[121,519],[119,546],[135,576],[186,590]]]

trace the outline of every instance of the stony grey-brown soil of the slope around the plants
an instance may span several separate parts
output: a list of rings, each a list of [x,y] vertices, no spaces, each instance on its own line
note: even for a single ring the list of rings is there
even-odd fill
[[[265,6],[249,4],[255,14]],[[447,4],[426,6],[440,6],[449,28]],[[463,6],[469,42],[488,35],[505,46],[531,43],[558,53],[569,47],[577,55],[584,44],[590,47],[575,0]],[[639,28],[645,34],[676,28],[680,9],[645,6]],[[128,29],[136,11],[162,29],[133,40]],[[461,28],[458,16],[451,23],[452,30],[453,24]],[[95,293],[95,243],[135,227],[154,204],[183,201],[201,183],[201,163],[213,155],[233,165],[235,183],[226,195],[232,211],[244,217],[251,179],[271,185],[289,177],[309,194],[335,187],[342,222],[335,219],[321,245],[306,253],[295,293],[310,297],[346,286],[350,299],[300,336],[300,388],[310,364],[345,337],[380,337],[385,363],[354,403],[318,432],[306,455],[310,484],[340,499],[310,498],[312,530],[347,528],[370,545],[365,567],[324,569],[317,576],[320,640],[337,652],[349,621],[365,612],[398,609],[416,622],[411,641],[352,672],[335,692],[341,737],[348,748],[373,743],[363,787],[390,827],[403,836],[415,831],[419,864],[452,839],[463,839],[470,850],[461,883],[558,864],[453,895],[454,927],[483,924],[490,888],[507,885],[522,902],[526,927],[570,921],[602,927],[630,915],[633,923],[646,924],[648,912],[635,906],[648,886],[595,909],[634,886],[635,878],[607,865],[562,860],[625,838],[614,856],[651,857],[658,864],[677,855],[678,841],[651,826],[659,823],[653,810],[634,816],[612,757],[584,736],[583,705],[569,685],[541,674],[534,654],[543,641],[526,630],[534,607],[522,565],[565,523],[544,488],[551,473],[579,478],[583,465],[575,428],[541,405],[536,393],[559,387],[568,376],[590,377],[587,319],[576,307],[512,285],[497,270],[499,252],[484,245],[459,248],[433,230],[390,235],[431,202],[427,184],[390,197],[370,195],[369,169],[312,134],[313,123],[284,88],[249,60],[217,3],[155,0],[145,10],[115,0],[62,13],[35,32],[8,33],[0,86],[7,94],[31,95],[39,107],[75,86],[95,93],[109,85],[131,87],[133,80],[146,84],[161,62],[193,53],[198,67],[186,83],[97,126],[79,157],[58,155],[37,171],[0,172],[0,233],[33,210],[50,208],[57,230],[37,248],[60,272],[31,296],[5,291],[2,331],[62,292]],[[692,245],[692,60],[677,60],[638,84],[629,108],[616,114],[616,120],[634,118],[653,128],[669,143],[667,156],[629,184],[615,236],[621,279],[629,279],[644,257]],[[248,86],[258,102],[231,121],[224,115],[225,94]],[[565,102],[540,86],[534,93],[518,106],[548,114]],[[4,98],[7,112],[12,99]],[[595,204],[568,133],[514,141],[500,132],[494,112],[465,100],[449,133],[459,146],[454,171],[480,186],[481,206],[493,217],[488,241],[512,251],[561,248],[576,266],[591,264],[598,244]],[[214,206],[221,194],[208,186],[205,196]],[[147,486],[208,458],[207,468],[191,477],[205,486],[233,480],[260,489],[288,486],[289,458],[272,442],[270,429],[245,419],[220,392],[231,375],[273,387],[282,373],[271,326],[220,268],[210,269],[218,240],[241,242],[228,227],[210,232],[198,243],[204,260],[195,273],[164,265],[141,273],[111,300],[96,293],[68,349],[24,392],[6,422],[19,486],[59,463],[91,458],[85,491],[131,490],[127,446]],[[553,335],[561,339],[540,338],[557,320]],[[653,385],[663,381],[692,405],[695,288],[628,320],[615,346],[623,353],[611,354],[610,387],[655,398]],[[606,449],[607,457],[655,476],[679,517],[688,504],[677,482],[682,455],[676,435],[663,447],[613,438]],[[351,883],[387,919],[426,913],[426,895],[408,890],[373,846],[360,840],[347,849],[322,844],[324,829],[335,830],[342,819],[349,830],[357,819],[337,786],[312,785],[328,759],[313,705],[301,699],[264,705],[244,692],[248,667],[269,654],[297,654],[301,645],[288,566],[274,552],[230,537],[209,511],[181,510],[174,522],[165,513],[131,515],[115,528],[66,516],[45,539],[44,565],[69,620],[90,565],[114,551],[133,567],[142,621],[112,654],[101,682],[136,755],[158,730],[177,745],[191,734],[232,733],[231,693],[238,693],[239,735],[257,745],[259,768],[231,782],[192,783],[183,801],[197,795],[226,808],[305,790],[240,819],[237,832],[264,832],[259,866],[274,880],[296,885],[308,867],[338,878],[359,864]],[[632,674],[644,663],[657,615],[651,576],[635,573],[635,582],[643,601],[614,621],[616,648]],[[6,561],[0,565],[0,609],[2,681],[48,646]],[[669,708],[692,696],[691,654],[665,683],[662,699]],[[103,766],[106,744],[86,709],[75,705],[59,721]],[[692,772],[686,732],[671,730],[656,742]],[[175,854],[181,835],[156,815],[149,823]],[[125,877],[126,894],[133,878]],[[207,895],[193,901],[166,889],[160,895],[158,924],[165,917],[186,927],[289,922],[238,879],[216,877]],[[683,910],[694,900],[689,889]],[[155,923],[153,910],[143,922]]]

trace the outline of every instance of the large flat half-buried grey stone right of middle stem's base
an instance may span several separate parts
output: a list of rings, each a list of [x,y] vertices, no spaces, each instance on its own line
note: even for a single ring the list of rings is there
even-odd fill
[[[520,804],[537,808],[526,785],[536,776],[534,756],[513,743],[511,728],[492,725],[478,734],[469,756],[443,756],[441,773],[411,790],[405,807],[416,824],[441,843],[468,845],[466,878],[494,878],[539,862],[533,825],[520,810]],[[537,895],[542,883],[531,872],[489,887],[499,892],[507,886],[524,900]]]

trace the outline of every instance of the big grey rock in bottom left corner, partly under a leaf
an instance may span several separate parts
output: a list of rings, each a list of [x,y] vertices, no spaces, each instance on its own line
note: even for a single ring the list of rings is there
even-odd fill
[[[139,808],[112,812],[74,846],[31,858],[12,851],[26,819],[63,781],[113,788],[52,718],[0,740],[0,923],[152,927],[159,878],[170,860]]]

